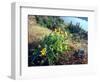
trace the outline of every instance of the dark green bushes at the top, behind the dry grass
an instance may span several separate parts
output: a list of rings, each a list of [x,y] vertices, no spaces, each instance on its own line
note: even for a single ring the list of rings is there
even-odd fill
[[[35,16],[36,21],[39,25],[49,28],[55,29],[56,27],[64,24],[64,21],[59,16]]]

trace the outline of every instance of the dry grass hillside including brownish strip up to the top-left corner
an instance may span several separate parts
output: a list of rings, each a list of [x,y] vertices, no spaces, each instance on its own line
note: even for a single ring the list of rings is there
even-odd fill
[[[28,43],[38,43],[45,35],[50,33],[51,30],[36,23],[35,16],[28,16]]]

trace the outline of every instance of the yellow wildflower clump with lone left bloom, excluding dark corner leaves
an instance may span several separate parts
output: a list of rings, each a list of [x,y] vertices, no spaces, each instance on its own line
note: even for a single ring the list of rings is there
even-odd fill
[[[60,28],[55,29],[41,40],[37,51],[33,54],[35,59],[38,59],[38,56],[42,57],[43,61],[44,58],[47,58],[48,63],[54,65],[58,61],[59,55],[68,50],[67,37],[67,32]]]

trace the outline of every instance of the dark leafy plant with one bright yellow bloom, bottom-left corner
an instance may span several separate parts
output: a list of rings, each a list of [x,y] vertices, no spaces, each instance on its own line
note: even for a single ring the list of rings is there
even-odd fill
[[[48,60],[46,57],[46,48],[34,48],[32,55],[30,56],[31,65],[48,65]]]

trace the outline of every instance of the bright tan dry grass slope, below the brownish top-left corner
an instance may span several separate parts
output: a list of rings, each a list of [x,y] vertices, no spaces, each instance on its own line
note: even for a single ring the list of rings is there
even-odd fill
[[[29,43],[38,43],[45,35],[51,33],[51,30],[41,27],[39,25],[30,25],[28,28],[28,41]]]

